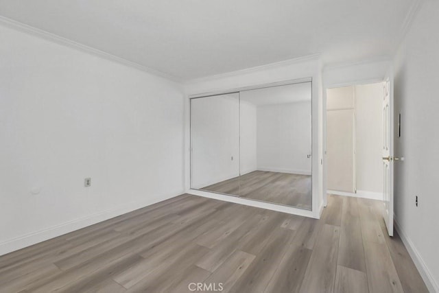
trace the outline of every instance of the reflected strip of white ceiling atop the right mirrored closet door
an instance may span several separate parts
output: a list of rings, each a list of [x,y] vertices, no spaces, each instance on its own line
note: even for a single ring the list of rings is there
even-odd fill
[[[311,82],[241,91],[239,97],[241,101],[256,106],[311,102]],[[309,108],[309,113],[311,113],[311,107]]]

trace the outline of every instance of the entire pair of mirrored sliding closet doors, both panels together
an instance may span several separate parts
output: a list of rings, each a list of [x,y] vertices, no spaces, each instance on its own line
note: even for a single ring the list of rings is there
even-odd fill
[[[311,82],[191,99],[191,188],[311,209]]]

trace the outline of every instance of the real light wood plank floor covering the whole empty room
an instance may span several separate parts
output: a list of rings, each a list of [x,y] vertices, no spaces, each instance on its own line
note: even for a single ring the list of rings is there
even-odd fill
[[[0,257],[0,292],[427,292],[379,203],[315,220],[182,195]],[[217,287],[218,288],[218,287]]]

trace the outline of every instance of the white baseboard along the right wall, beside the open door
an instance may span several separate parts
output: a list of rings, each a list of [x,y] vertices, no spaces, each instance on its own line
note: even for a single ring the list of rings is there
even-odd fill
[[[433,275],[425,264],[425,261],[420,256],[418,250],[414,246],[412,240],[407,237],[407,234],[405,233],[403,228],[399,226],[398,221],[396,220],[396,215],[394,215],[394,228],[396,229],[396,232],[398,232],[399,237],[401,237],[401,240],[403,241],[405,248],[407,248],[410,257],[412,257],[414,265],[418,269],[420,277],[423,278],[425,285],[427,285],[429,292],[439,292],[438,282],[436,282],[436,280],[434,279]]]

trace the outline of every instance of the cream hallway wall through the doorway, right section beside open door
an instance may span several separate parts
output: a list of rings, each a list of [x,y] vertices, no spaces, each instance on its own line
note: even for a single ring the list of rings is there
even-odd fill
[[[363,84],[355,91],[357,190],[383,194],[383,84]]]

